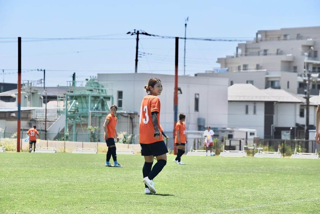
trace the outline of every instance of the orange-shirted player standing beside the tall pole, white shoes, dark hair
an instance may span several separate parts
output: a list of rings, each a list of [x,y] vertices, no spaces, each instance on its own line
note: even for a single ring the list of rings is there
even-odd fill
[[[181,161],[181,156],[184,154],[186,150],[187,136],[186,136],[186,124],[184,121],[186,120],[185,114],[179,115],[179,122],[176,124],[176,137],[174,139],[174,143],[177,145],[177,157],[173,161],[177,164],[184,165],[185,163]]]

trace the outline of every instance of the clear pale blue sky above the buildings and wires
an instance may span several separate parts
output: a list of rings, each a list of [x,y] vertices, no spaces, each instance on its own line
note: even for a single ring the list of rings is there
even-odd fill
[[[320,1],[0,1],[0,69],[5,82],[17,81],[17,39],[21,36],[22,69],[46,69],[48,86],[66,85],[97,73],[134,72],[135,36],[150,34],[187,37],[246,37],[258,30],[320,26]],[[24,38],[101,36],[108,40],[25,42]],[[98,38],[98,37],[96,37]],[[138,72],[174,74],[174,39],[140,36]],[[13,41],[13,42],[11,42]],[[232,55],[237,42],[187,40],[186,74],[219,67],[218,57]],[[183,40],[179,43],[179,74],[183,74]],[[12,72],[14,72],[12,74]],[[2,70],[0,70],[3,79]],[[39,71],[22,73],[38,80]]]

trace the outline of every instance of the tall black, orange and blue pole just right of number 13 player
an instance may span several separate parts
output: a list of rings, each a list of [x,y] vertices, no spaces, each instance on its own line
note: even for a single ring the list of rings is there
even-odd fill
[[[179,37],[176,37],[176,43],[175,43],[175,63],[174,63],[174,94],[173,94],[173,117],[174,117],[174,123],[173,123],[173,139],[176,137],[176,123],[178,122],[178,58],[179,58]],[[174,143],[173,144],[173,154],[177,154],[177,146]]]

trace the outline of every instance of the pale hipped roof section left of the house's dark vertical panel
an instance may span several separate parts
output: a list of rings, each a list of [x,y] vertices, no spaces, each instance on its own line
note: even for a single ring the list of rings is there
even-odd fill
[[[252,84],[233,84],[228,87],[228,101],[277,101]]]

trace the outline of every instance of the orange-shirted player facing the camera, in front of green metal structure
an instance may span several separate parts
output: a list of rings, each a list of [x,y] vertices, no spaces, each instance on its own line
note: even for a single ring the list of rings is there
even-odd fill
[[[117,138],[117,142],[119,141],[117,130],[116,130],[116,123],[117,117],[116,112],[118,108],[116,105],[110,107],[111,113],[106,116],[106,120],[104,121],[104,139],[106,140],[108,146],[107,158],[106,158],[106,165],[105,166],[115,166],[115,167],[123,167],[117,162],[117,155],[116,155],[116,144],[115,144],[115,136]],[[110,158],[112,155],[112,159],[115,162],[115,165],[110,164]]]

